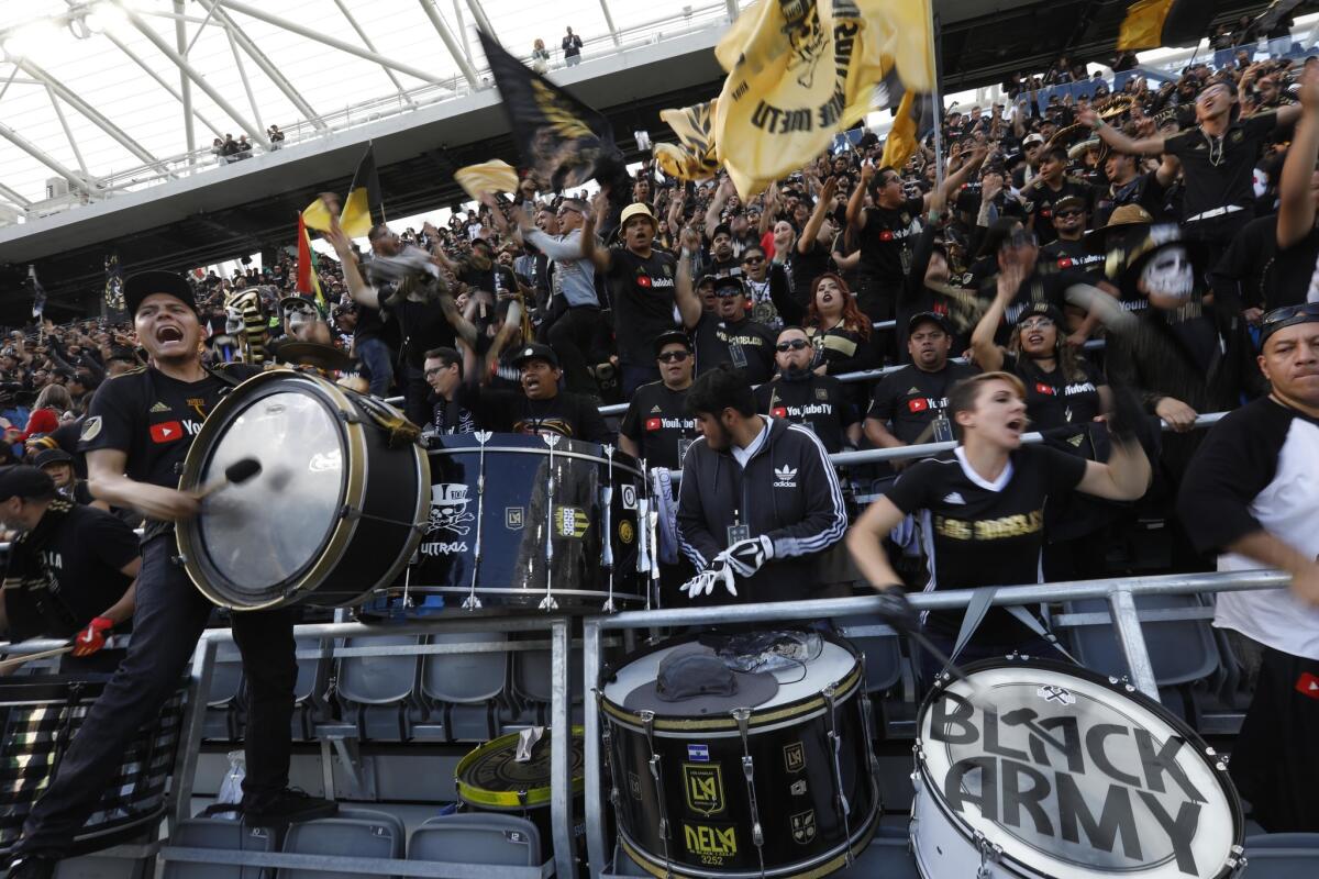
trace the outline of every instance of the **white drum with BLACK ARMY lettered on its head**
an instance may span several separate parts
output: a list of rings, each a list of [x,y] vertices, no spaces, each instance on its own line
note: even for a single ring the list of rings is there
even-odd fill
[[[966,672],[976,696],[944,675],[921,706],[922,876],[1208,879],[1245,866],[1223,758],[1158,702],[1050,662]]]

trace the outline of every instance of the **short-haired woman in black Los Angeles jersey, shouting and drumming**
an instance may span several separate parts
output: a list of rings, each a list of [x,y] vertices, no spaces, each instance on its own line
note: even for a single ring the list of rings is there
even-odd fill
[[[1145,493],[1149,460],[1129,432],[1129,416],[1109,419],[1113,451],[1107,464],[1046,445],[1022,445],[1026,389],[1009,373],[983,373],[958,382],[948,412],[960,444],[951,460],[925,460],[902,473],[847,535],[847,547],[876,589],[901,582],[881,540],[906,515],[921,525],[929,556],[926,590],[1039,582],[1045,507],[1074,489],[1113,501]],[[1124,411],[1125,415],[1125,411]],[[951,654],[962,611],[931,611],[926,634]],[[1004,609],[991,609],[964,660],[1021,651],[1046,655],[1047,642]],[[938,671],[930,658],[926,679]]]

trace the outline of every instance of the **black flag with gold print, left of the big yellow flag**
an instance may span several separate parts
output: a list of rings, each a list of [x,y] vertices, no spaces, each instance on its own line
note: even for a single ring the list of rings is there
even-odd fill
[[[558,192],[625,174],[609,120],[532,71],[480,32],[522,166]]]

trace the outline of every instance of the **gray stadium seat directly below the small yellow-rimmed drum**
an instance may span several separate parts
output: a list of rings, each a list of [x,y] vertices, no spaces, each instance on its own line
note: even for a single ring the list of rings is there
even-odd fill
[[[541,834],[534,824],[513,814],[445,814],[427,818],[413,832],[408,859],[539,867]]]

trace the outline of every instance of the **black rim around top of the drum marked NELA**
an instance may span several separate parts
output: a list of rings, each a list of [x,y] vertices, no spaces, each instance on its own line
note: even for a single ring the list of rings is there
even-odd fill
[[[820,631],[819,634],[824,640],[832,642],[834,644],[842,647],[852,656],[852,668],[848,669],[836,681],[827,681],[834,685],[834,704],[842,705],[848,698],[852,698],[859,689],[861,689],[861,683],[865,677],[865,663],[863,662],[861,651],[856,650],[855,646],[845,638],[835,635],[832,633]],[[658,644],[652,644],[645,650],[640,650],[629,656],[625,656],[625,662],[621,666],[607,666],[600,669],[600,680],[598,681],[600,692],[600,708],[608,721],[617,721],[625,723],[634,729],[642,729],[644,721],[641,716],[632,712],[623,705],[619,705],[608,696],[604,695],[605,676],[612,676],[616,669],[625,668],[633,662],[649,656],[650,654],[666,650],[670,647],[678,647],[685,643],[691,643],[696,640],[699,635],[687,635],[682,638],[670,638],[669,640],[660,642]],[[782,705],[776,705],[773,709],[764,710],[760,708],[751,709],[751,717],[747,721],[748,730],[761,731],[766,726],[777,726],[786,721],[814,714],[827,706],[824,700],[824,688],[820,688],[811,693],[810,696],[803,696],[802,698],[794,700],[791,702],[783,702]],[[710,714],[656,714],[652,721],[652,729],[657,733],[714,733],[714,731],[729,731],[736,733],[740,730],[737,721],[728,717],[711,717]]]

